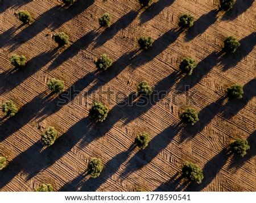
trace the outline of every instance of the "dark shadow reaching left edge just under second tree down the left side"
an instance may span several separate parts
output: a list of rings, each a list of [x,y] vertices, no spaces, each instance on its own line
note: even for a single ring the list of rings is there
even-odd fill
[[[0,94],[13,90],[42,67],[46,66],[48,62],[55,57],[56,51],[57,48],[51,50],[50,52],[41,53],[38,56],[31,58],[25,67],[21,67],[19,69],[14,68],[1,73]]]

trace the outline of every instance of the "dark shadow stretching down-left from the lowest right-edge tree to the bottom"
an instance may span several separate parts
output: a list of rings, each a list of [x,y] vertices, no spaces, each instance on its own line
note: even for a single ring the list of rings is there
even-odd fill
[[[196,184],[191,182],[187,188],[184,189],[185,192],[199,192],[202,191],[207,185],[209,185],[213,179],[217,176],[218,172],[220,172],[221,168],[224,167],[227,162],[229,156],[227,155],[226,149],[223,149],[218,153],[215,157],[209,160],[204,168],[203,174],[204,179],[202,183]]]

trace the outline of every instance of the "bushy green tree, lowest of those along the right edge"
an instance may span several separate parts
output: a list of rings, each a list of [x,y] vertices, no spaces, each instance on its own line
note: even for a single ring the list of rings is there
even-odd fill
[[[238,154],[241,157],[246,155],[246,151],[250,149],[246,139],[236,139],[234,142],[229,143],[229,151],[232,154]]]

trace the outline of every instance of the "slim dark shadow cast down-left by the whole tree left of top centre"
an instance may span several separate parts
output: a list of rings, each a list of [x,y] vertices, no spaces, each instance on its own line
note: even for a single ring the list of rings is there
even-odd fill
[[[81,37],[80,39],[75,41],[75,43],[71,44],[70,46],[68,46],[67,49],[61,52],[59,56],[57,56],[57,58],[55,58],[52,64],[48,67],[48,70],[53,70],[63,64],[65,61],[69,60],[69,58],[76,56],[76,54],[79,53],[81,49],[87,48],[90,43],[92,43],[95,37],[96,33],[94,31],[86,33],[85,36]]]

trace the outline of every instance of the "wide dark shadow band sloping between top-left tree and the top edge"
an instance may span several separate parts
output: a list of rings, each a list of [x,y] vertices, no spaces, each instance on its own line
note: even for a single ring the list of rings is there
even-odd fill
[[[64,23],[75,18],[75,16],[79,15],[82,11],[87,9],[90,5],[93,4],[93,2],[94,0],[77,1],[72,6],[68,7],[68,9],[61,5],[49,9],[40,15],[38,19],[35,19],[35,22],[33,22],[30,26],[22,29],[22,31],[13,37],[13,39],[10,41],[13,43],[10,50],[14,50],[21,44],[31,40],[47,27],[53,30],[59,28]]]

